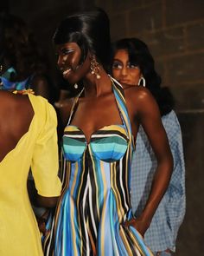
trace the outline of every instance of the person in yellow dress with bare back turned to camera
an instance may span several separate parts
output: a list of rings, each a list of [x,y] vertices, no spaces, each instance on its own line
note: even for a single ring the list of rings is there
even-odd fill
[[[38,205],[54,207],[61,194],[54,108],[41,96],[0,90],[0,124],[0,255],[42,256],[27,178],[31,167]]]

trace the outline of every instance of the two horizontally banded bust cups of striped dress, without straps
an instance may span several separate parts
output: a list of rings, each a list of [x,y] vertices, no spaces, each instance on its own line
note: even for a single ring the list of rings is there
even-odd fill
[[[128,147],[124,125],[100,128],[91,136],[89,143],[80,128],[68,125],[63,136],[63,151],[67,161],[80,161],[86,149],[93,157],[102,161],[118,161]],[[70,147],[72,146],[72,147]]]

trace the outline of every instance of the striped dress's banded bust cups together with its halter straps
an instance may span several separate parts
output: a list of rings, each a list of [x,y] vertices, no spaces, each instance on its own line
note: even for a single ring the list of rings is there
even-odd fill
[[[76,97],[73,102],[71,115],[62,139],[62,149],[67,161],[80,161],[86,150],[89,151],[89,154],[91,154],[92,157],[96,157],[101,161],[118,161],[124,156],[128,148],[129,141],[133,140],[130,140],[132,137],[130,121],[126,119],[127,115],[125,115],[127,113],[127,109],[124,104],[119,102],[121,95],[118,95],[118,89],[116,88],[117,85],[121,86],[119,84],[115,84],[115,81],[112,81],[112,90],[116,98],[118,111],[123,124],[109,125],[104,128],[100,128],[92,133],[89,143],[87,143],[86,136],[80,128],[70,125],[80,95]]]

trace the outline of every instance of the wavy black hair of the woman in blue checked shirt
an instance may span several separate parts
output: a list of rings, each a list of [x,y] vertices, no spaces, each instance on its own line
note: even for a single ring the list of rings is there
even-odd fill
[[[161,115],[168,114],[174,108],[175,101],[169,88],[161,87],[162,79],[155,69],[155,61],[146,43],[138,38],[124,38],[112,43],[112,61],[118,49],[125,49],[131,64],[137,65],[143,74],[146,87],[150,89],[160,108]]]

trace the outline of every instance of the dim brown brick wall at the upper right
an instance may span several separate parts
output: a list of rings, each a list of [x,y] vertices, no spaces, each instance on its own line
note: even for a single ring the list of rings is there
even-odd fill
[[[109,14],[112,40],[141,38],[179,111],[204,108],[204,1],[98,0]]]

